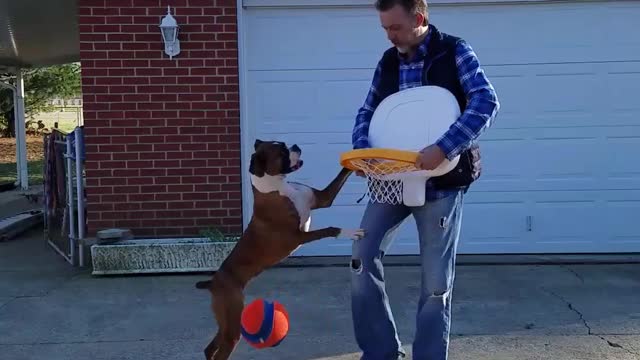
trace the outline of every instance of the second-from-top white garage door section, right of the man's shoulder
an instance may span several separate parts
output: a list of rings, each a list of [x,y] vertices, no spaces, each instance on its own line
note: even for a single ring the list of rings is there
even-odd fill
[[[640,125],[640,62],[487,66],[495,128]]]

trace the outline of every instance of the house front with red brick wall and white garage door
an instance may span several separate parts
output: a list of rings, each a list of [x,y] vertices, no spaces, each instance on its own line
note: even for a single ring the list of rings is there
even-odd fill
[[[371,3],[80,0],[88,235],[239,233],[256,138],[297,143],[305,167],[292,179],[327,184],[389,46]],[[429,3],[502,103],[460,253],[640,251],[640,3]],[[167,5],[180,25],[172,59],[158,28]],[[312,226],[357,226],[363,192],[353,177]],[[417,254],[414,231],[403,226],[390,253]],[[350,252],[326,239],[297,254]]]

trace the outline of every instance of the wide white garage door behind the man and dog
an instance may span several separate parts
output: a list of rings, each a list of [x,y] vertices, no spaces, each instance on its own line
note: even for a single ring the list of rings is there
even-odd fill
[[[475,48],[502,103],[482,138],[484,174],[466,197],[460,252],[640,251],[640,2],[431,11],[440,30]],[[248,6],[243,23],[245,146],[256,137],[299,144],[306,164],[291,179],[323,187],[351,148],[356,111],[389,46],[377,14]],[[352,177],[312,226],[357,227],[363,191]],[[350,252],[349,241],[325,239],[297,254]],[[417,252],[409,218],[391,253]]]

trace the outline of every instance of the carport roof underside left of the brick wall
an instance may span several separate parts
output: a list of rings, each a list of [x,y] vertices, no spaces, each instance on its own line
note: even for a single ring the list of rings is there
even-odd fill
[[[0,0],[0,71],[80,60],[77,0]]]

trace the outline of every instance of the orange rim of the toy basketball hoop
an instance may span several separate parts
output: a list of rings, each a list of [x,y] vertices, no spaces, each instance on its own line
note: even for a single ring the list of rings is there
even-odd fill
[[[416,151],[385,149],[385,148],[367,148],[355,149],[343,152],[340,155],[340,165],[343,167],[357,171],[362,170],[356,166],[356,162],[367,160],[387,160],[389,168],[393,167],[412,167],[415,166],[419,153]],[[415,170],[418,170],[415,168]]]

